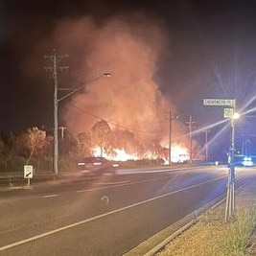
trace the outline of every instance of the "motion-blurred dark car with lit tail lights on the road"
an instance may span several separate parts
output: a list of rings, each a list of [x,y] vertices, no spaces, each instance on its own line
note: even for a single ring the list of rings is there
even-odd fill
[[[88,156],[78,162],[81,173],[91,175],[115,174],[119,164],[105,157]]]

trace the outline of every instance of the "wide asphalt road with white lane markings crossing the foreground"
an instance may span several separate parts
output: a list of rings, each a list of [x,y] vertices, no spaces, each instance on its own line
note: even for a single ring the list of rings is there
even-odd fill
[[[2,192],[0,255],[123,255],[225,195],[226,175],[215,166],[120,171]]]

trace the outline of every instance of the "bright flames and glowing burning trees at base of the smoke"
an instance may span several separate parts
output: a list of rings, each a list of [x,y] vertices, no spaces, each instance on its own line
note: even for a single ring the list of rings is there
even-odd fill
[[[111,130],[105,121],[97,122],[90,131],[78,135],[79,152],[83,156],[104,156],[116,161],[138,159],[163,159],[167,162],[167,148],[159,144],[142,145],[134,134],[128,130]],[[172,162],[185,162],[189,153],[185,147],[174,145]]]

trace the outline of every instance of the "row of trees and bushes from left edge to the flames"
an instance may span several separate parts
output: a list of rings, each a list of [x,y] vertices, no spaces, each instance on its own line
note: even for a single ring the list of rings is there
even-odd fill
[[[20,132],[0,135],[0,172],[21,172],[25,164],[35,170],[53,170],[54,137],[52,132],[41,128],[27,128]],[[98,151],[95,152],[95,149]],[[115,149],[125,149],[129,154],[147,158],[163,155],[159,145],[143,146],[128,130],[114,131],[104,120],[98,121],[90,130],[79,133],[75,138],[66,133],[58,138],[59,169],[76,168],[78,159],[84,156],[107,154],[115,156]],[[153,157],[155,156],[155,157]]]

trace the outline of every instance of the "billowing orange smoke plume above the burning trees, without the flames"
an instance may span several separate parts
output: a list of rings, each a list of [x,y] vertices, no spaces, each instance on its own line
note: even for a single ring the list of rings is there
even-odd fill
[[[99,118],[112,128],[128,129],[144,143],[167,141],[165,115],[175,107],[161,94],[157,64],[166,51],[165,32],[144,15],[119,15],[97,24],[91,17],[63,20],[55,30],[59,49],[68,51],[74,81],[88,82],[84,90],[65,100],[61,116],[72,134],[92,128]],[[99,117],[99,118],[97,118]],[[173,136],[184,134],[174,122]]]

